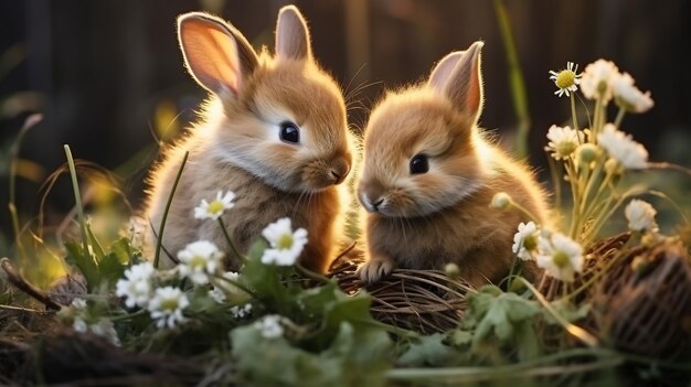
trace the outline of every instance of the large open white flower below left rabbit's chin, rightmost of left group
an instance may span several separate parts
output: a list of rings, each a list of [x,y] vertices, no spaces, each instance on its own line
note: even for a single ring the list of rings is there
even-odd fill
[[[284,217],[272,223],[262,232],[272,248],[264,250],[262,262],[267,265],[291,266],[307,245],[307,230],[298,228],[293,233],[290,218]]]

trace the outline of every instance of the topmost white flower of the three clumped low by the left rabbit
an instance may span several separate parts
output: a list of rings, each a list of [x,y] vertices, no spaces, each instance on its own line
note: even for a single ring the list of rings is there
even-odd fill
[[[209,283],[209,275],[216,272],[221,266],[223,252],[209,240],[193,241],[178,252],[181,277],[188,277],[196,284]]]

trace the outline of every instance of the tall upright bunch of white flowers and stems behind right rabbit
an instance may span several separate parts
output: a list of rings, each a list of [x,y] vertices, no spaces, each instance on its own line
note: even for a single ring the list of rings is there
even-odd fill
[[[576,69],[573,69],[574,74]],[[562,76],[563,79],[571,79],[566,76],[568,74],[562,73],[556,74],[556,78]],[[551,74],[554,80],[555,73]],[[578,114],[572,104],[573,128],[552,126],[548,131],[550,142],[545,150],[556,160],[556,171],[564,171],[564,180],[570,184],[572,214],[568,236],[587,245],[624,201],[642,193],[618,193],[623,175],[648,168],[646,148],[620,127],[626,112],[647,111],[653,103],[649,92],[640,92],[634,78],[627,73],[620,73],[609,61],[598,60],[588,64],[573,79],[570,85],[557,84],[557,87],[571,87],[568,90],[573,98],[573,93],[580,86],[585,98],[594,101],[594,114],[588,119],[591,127],[583,130],[578,128]],[[607,119],[607,106],[612,101],[619,107],[614,121]],[[559,186],[555,189],[556,205],[561,206],[562,190]]]

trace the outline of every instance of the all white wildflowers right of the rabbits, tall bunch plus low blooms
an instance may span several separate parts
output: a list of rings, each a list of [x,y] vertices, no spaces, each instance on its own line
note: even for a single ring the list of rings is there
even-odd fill
[[[650,93],[641,93],[627,73],[598,60],[577,73],[578,66],[568,62],[566,69],[550,72],[560,97],[572,98],[573,127],[553,125],[546,133],[545,151],[554,160],[554,173],[563,171],[572,193],[572,216],[568,232],[562,233],[553,225],[521,223],[513,237],[513,252],[521,260],[535,261],[548,276],[571,282],[584,268],[584,250],[597,236],[604,223],[630,196],[621,195],[621,176],[648,166],[648,151],[630,135],[620,129],[626,112],[644,112],[653,105]],[[591,128],[580,129],[574,96],[581,87],[583,95],[594,101]],[[614,101],[619,112],[610,122],[606,108]],[[556,206],[561,206],[561,189],[556,186]],[[517,205],[506,193],[498,193],[491,204],[497,208]],[[522,208],[521,208],[522,209]],[[656,211],[640,200],[626,206],[625,216],[631,232],[657,233]]]

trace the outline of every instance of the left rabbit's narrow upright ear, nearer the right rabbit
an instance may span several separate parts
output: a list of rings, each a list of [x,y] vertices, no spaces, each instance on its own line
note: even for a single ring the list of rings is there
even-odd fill
[[[312,56],[307,22],[295,6],[286,6],[278,12],[276,54],[293,60],[309,60]]]

